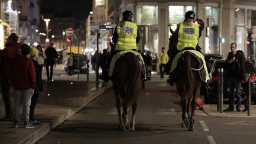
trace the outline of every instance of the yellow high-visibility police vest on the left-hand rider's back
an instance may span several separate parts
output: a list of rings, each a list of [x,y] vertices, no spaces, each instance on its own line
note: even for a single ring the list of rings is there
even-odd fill
[[[119,36],[115,50],[133,50],[137,49],[137,24],[125,21],[124,26],[117,25],[117,34]]]

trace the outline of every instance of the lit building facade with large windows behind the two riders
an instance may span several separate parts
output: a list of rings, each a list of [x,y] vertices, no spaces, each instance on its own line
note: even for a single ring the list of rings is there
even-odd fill
[[[116,25],[121,12],[133,12],[141,40],[139,48],[159,53],[168,48],[169,27],[175,30],[184,21],[185,12],[193,10],[206,27],[199,39],[204,53],[222,53],[225,57],[235,42],[247,57],[253,55],[252,30],[256,27],[256,1],[244,0],[106,0],[107,21]],[[255,30],[256,32],[256,30]]]

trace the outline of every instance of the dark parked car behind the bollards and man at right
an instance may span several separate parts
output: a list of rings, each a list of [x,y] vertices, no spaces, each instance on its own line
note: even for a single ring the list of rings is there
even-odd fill
[[[215,60],[209,73],[210,80],[206,84],[204,93],[204,101],[208,104],[214,104],[217,100],[217,69],[219,68],[223,68],[223,98],[229,97],[226,60]],[[251,100],[256,104],[256,71],[250,60],[245,60],[245,73],[251,74]]]

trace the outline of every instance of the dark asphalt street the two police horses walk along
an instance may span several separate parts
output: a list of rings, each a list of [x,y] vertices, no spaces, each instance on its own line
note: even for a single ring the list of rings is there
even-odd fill
[[[113,89],[73,114],[37,143],[255,143],[253,117],[206,116],[196,110],[196,132],[181,127],[181,107],[175,87],[153,75],[140,92],[136,132],[118,128]],[[129,111],[129,120],[131,111]]]

